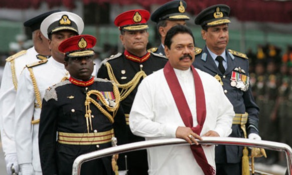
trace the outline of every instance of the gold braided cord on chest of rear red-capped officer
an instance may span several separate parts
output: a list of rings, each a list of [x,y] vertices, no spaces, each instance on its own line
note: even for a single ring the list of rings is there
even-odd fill
[[[120,101],[124,100],[135,89],[135,87],[139,83],[141,77],[143,77],[143,78],[147,77],[145,72],[143,70],[140,70],[139,72],[136,73],[134,78],[131,79],[131,81],[129,81],[125,84],[119,84],[119,82],[117,81],[117,79],[115,78],[115,76],[113,74],[113,70],[112,70],[109,63],[106,63],[106,68],[107,68],[107,73],[108,73],[109,79],[111,81],[114,81],[116,83],[117,87],[122,89],[120,92]]]

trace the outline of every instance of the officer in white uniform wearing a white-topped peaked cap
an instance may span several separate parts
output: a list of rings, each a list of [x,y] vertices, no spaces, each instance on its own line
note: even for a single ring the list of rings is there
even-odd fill
[[[42,34],[49,39],[52,57],[28,64],[20,76],[16,95],[15,141],[22,174],[42,174],[38,131],[42,99],[45,90],[67,76],[64,54],[58,51],[59,44],[82,33],[82,19],[70,12],[57,12],[41,24]]]

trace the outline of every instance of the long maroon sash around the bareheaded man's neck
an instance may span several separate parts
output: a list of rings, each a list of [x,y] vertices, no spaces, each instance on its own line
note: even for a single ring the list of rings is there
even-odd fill
[[[206,102],[205,94],[202,85],[201,78],[198,72],[195,70],[194,66],[191,66],[194,82],[195,82],[195,94],[196,94],[196,109],[197,109],[197,120],[198,125],[193,127],[193,117],[179,80],[175,74],[173,67],[170,65],[169,61],[164,67],[164,76],[170,87],[172,95],[175,99],[179,113],[187,127],[192,128],[193,132],[200,135],[205,118],[206,118]],[[215,174],[215,169],[211,166],[206,158],[202,145],[191,145],[193,155],[198,162],[199,166],[202,168],[204,174]]]

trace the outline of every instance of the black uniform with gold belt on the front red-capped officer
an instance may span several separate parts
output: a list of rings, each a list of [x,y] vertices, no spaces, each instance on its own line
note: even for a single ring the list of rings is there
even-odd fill
[[[86,82],[70,78],[46,91],[39,134],[43,174],[72,174],[72,165],[77,156],[111,147],[114,136],[119,144],[125,140],[122,131],[126,125],[122,110],[116,108],[108,111],[108,105],[106,107],[100,96],[109,102],[109,107],[116,107],[118,102],[114,105],[111,103],[118,100],[118,89],[114,91],[115,85],[103,79],[91,78],[89,81],[92,83],[87,83],[87,86],[78,86]],[[86,107],[84,104],[89,97],[92,101]],[[90,119],[84,117],[88,113],[87,108],[91,110]],[[111,157],[83,163],[81,174],[114,174]]]

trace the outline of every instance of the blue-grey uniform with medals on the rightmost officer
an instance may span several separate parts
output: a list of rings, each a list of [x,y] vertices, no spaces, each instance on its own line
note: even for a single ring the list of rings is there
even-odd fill
[[[196,58],[193,65],[214,76],[223,86],[224,93],[233,105],[235,117],[230,137],[244,137],[241,125],[234,124],[236,119],[244,118],[248,114],[245,124],[247,135],[258,134],[259,108],[254,102],[251,88],[248,86],[248,59],[245,54],[226,50],[227,69],[222,74],[211,57],[207,47],[202,51],[196,49]],[[243,84],[242,84],[243,83]],[[240,85],[241,84],[241,85]],[[241,146],[216,146],[216,163],[238,163],[242,157]]]

